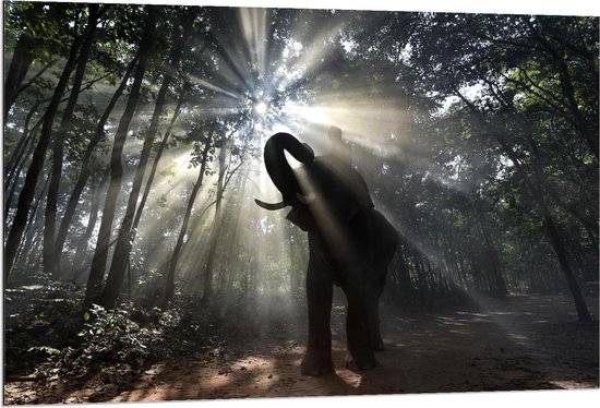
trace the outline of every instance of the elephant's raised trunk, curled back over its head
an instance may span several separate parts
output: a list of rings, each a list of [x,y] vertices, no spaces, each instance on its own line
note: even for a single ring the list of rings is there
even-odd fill
[[[300,143],[289,133],[276,133],[266,142],[264,151],[266,171],[284,195],[283,203],[291,205],[297,202],[297,194],[301,193],[301,189],[286,159],[285,151],[302,164],[311,163],[314,159],[314,153],[309,145]]]

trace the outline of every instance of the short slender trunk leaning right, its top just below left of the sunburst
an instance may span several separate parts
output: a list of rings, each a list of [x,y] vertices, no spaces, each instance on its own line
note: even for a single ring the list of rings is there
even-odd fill
[[[165,285],[165,297],[164,297],[163,305],[168,304],[168,302],[170,302],[175,296],[175,276],[177,273],[177,264],[179,262],[181,249],[183,248],[183,240],[185,239],[185,235],[188,233],[188,224],[190,223],[192,208],[194,207],[194,202],[195,202],[197,192],[202,187],[204,175],[206,172],[206,165],[208,161],[208,152],[213,147],[213,137],[214,137],[214,130],[212,129],[211,132],[208,133],[208,137],[206,139],[206,142],[204,143],[204,148],[202,149],[202,161],[200,165],[197,179],[192,187],[190,199],[188,200],[188,206],[185,207],[185,214],[183,215],[181,229],[179,230],[179,236],[177,237],[177,243],[175,244],[173,253],[171,255],[171,261],[169,262],[169,271],[167,273],[167,283]]]

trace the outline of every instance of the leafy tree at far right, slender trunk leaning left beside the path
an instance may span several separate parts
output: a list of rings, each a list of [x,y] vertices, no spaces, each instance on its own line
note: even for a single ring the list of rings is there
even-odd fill
[[[458,35],[456,41],[445,44],[444,49],[430,49],[429,47],[433,44],[431,39],[428,39],[429,43],[428,40],[417,43],[417,47],[413,48],[415,58],[420,63],[424,62],[424,59],[430,59],[429,67],[435,67],[435,69],[425,71],[427,73],[423,74],[429,79],[433,75],[439,76],[435,81],[432,80],[432,83],[437,85],[440,98],[458,97],[472,113],[478,131],[500,145],[503,154],[515,166],[516,173],[526,185],[524,194],[530,194],[543,223],[549,242],[554,249],[574,297],[579,320],[588,321],[590,315],[569,266],[567,249],[561,237],[560,227],[544,197],[544,190],[549,185],[539,177],[540,163],[529,163],[530,159],[524,156],[535,158],[536,149],[545,143],[544,140],[531,137],[536,134],[531,131],[536,128],[541,130],[540,124],[543,122],[532,122],[531,116],[527,112],[528,109],[524,108],[529,105],[528,100],[532,100],[538,107],[537,116],[560,115],[564,123],[572,127],[575,134],[580,136],[580,141],[587,144],[589,152],[597,158],[598,147],[590,142],[598,136],[590,132],[595,129],[592,123],[597,122],[598,116],[585,116],[579,106],[589,107],[587,110],[589,113],[596,112],[597,104],[590,106],[587,101],[593,98],[597,100],[598,94],[597,91],[590,94],[575,92],[575,79],[579,81],[588,77],[592,83],[597,82],[593,70],[578,71],[580,67],[593,65],[589,60],[591,56],[589,49],[593,45],[579,35],[577,37],[584,41],[583,46],[565,41],[567,36],[561,36],[562,39],[559,40],[554,34],[555,31],[559,29],[563,35],[568,31],[566,20],[559,17],[487,16],[475,20],[471,16],[461,16],[451,21],[449,16],[440,15],[425,20],[424,24],[433,37],[447,36],[449,32],[464,33]],[[550,27],[552,31],[549,29]],[[588,25],[588,28],[591,28],[591,25]],[[569,59],[579,60],[580,63],[567,63],[565,55],[568,55]],[[431,58],[439,64],[432,64]],[[550,80],[551,77],[559,79],[557,86]],[[471,100],[465,95],[465,88],[475,84],[480,84],[483,93],[477,100]],[[583,84],[581,86],[581,89],[586,87]],[[583,98],[586,95],[589,98],[577,103],[575,95]],[[521,104],[521,100],[525,104]],[[512,115],[508,121],[506,121],[507,112]],[[518,128],[509,128],[514,123],[513,118],[517,119]],[[524,131],[527,132],[525,143],[521,142]],[[530,156],[529,152],[524,152],[527,146],[532,147],[533,156]],[[592,176],[592,178],[596,177]]]

